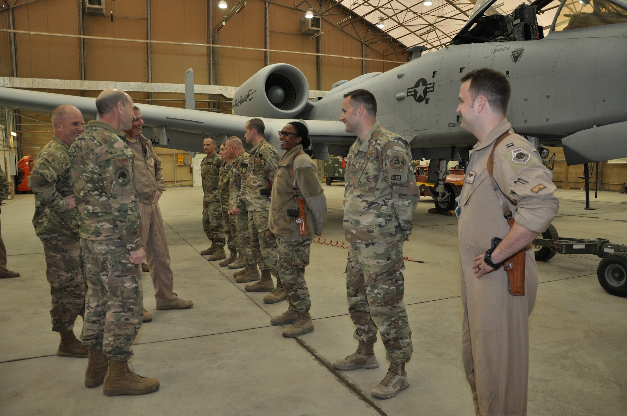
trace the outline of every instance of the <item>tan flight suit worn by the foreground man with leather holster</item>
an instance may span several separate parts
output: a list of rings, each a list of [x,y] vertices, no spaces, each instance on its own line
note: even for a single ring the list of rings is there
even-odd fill
[[[492,237],[503,238],[510,231],[486,167],[495,140],[510,127],[503,119],[470,151],[458,199],[462,355],[475,412],[482,416],[527,414],[529,314],[538,285],[534,250],[529,247],[526,252],[525,296],[509,293],[503,268],[481,278],[476,278],[472,269],[473,258],[490,249]],[[495,149],[493,175],[516,222],[538,233],[545,231],[559,202],[551,172],[542,165],[535,148],[525,138],[509,135]]]

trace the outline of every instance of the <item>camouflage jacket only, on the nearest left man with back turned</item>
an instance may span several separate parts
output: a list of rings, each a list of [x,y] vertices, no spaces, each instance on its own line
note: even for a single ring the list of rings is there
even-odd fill
[[[135,198],[133,152],[115,128],[87,123],[70,147],[70,172],[80,213],[80,237],[121,239],[129,251],[139,250],[141,217]]]

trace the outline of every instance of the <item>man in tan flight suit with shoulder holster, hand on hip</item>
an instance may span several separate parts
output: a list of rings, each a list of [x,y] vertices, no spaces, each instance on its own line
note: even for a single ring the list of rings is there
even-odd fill
[[[524,416],[529,314],[538,284],[531,242],[547,229],[559,202],[539,153],[514,133],[505,118],[510,98],[507,78],[482,68],[470,71],[461,82],[460,127],[478,140],[470,151],[457,210],[464,369],[477,415]],[[487,171],[490,152],[493,177],[515,219],[511,228]],[[493,237],[503,241],[492,250]],[[525,295],[512,296],[502,262],[521,250],[526,251]]]

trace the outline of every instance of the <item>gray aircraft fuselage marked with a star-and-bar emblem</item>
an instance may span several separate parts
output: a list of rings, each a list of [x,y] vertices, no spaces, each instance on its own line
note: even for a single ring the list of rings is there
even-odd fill
[[[627,24],[559,31],[535,41],[451,45],[337,86],[307,118],[337,120],[344,93],[364,88],[376,97],[379,123],[412,148],[473,145],[477,140],[459,127],[457,97],[461,76],[482,67],[507,75],[507,118],[519,134],[559,142],[594,125],[627,121]]]

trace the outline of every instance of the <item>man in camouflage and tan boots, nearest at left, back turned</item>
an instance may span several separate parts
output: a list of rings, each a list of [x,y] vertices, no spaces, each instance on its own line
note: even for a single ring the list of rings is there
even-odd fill
[[[85,385],[104,382],[107,396],[152,393],[159,389],[159,380],[140,377],[128,363],[133,356],[130,346],[142,326],[139,265],[145,257],[133,152],[120,135],[132,126],[133,101],[124,91],[107,88],[98,95],[96,108],[100,120],[87,123],[70,147],[88,286],[81,336],[88,350]]]

